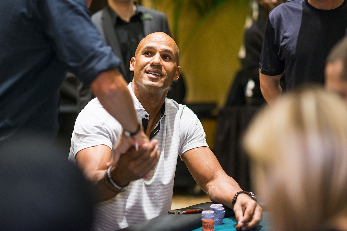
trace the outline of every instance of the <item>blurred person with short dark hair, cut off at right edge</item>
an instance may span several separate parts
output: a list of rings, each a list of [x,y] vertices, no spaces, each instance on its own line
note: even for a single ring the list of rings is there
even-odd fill
[[[347,37],[341,39],[327,57],[325,88],[336,92],[347,103]]]

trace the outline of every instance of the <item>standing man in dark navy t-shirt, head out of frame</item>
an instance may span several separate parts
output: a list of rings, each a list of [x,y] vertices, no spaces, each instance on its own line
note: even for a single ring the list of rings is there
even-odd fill
[[[286,89],[307,82],[324,83],[324,61],[331,47],[345,36],[346,0],[293,0],[270,12],[260,57],[260,86],[271,105]]]

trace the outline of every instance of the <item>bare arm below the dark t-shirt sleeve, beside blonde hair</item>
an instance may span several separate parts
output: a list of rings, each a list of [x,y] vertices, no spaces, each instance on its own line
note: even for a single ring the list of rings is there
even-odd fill
[[[270,106],[282,94],[282,88],[280,86],[281,76],[282,74],[270,76],[260,73],[259,75],[261,92]]]

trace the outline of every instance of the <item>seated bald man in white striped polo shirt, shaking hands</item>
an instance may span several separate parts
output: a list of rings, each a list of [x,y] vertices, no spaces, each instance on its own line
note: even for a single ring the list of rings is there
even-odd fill
[[[234,195],[242,191],[209,149],[196,115],[166,98],[172,80],[179,78],[178,63],[175,41],[162,32],[147,35],[130,61],[134,79],[128,88],[151,140],[138,151],[117,149],[132,134],[121,135],[120,124],[97,98],[78,115],[69,159],[77,162],[97,190],[94,230],[117,230],[167,213],[177,155],[213,202],[232,208]],[[247,192],[237,197],[234,212],[244,230],[257,226],[262,217],[262,208]]]

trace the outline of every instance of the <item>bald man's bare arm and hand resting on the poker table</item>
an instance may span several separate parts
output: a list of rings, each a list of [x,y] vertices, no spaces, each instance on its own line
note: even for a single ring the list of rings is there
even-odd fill
[[[242,189],[226,174],[208,147],[188,150],[182,154],[182,159],[211,201],[232,208],[234,195]],[[237,197],[233,209],[237,221],[244,224],[242,226],[246,229],[254,228],[261,221],[262,208],[246,194]]]

